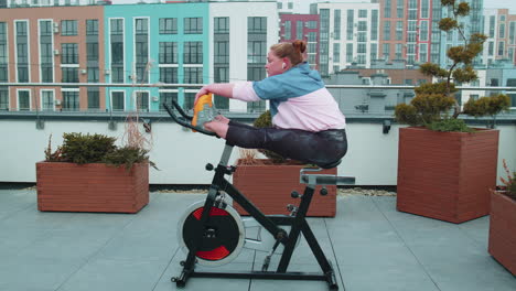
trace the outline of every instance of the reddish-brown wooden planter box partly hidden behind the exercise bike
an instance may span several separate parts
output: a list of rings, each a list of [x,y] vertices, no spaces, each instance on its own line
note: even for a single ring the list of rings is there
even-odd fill
[[[260,160],[268,163],[268,160]],[[303,194],[304,184],[299,183],[299,164],[256,164],[238,165],[233,174],[234,185],[266,215],[289,214],[288,204],[299,206],[300,198],[292,198],[290,193]],[[318,174],[336,174],[336,168],[316,172]],[[315,188],[308,216],[333,217],[336,213],[336,186],[326,186],[327,195],[320,194],[321,186]],[[248,215],[240,205],[234,204],[241,215]]]

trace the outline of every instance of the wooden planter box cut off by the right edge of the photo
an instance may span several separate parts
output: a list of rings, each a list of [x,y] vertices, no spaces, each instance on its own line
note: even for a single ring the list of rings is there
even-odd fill
[[[491,194],[488,251],[516,276],[516,202],[497,192]]]

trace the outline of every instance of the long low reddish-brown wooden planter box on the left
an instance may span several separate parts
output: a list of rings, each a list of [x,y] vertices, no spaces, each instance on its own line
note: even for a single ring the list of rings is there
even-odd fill
[[[138,213],[149,203],[149,164],[36,163],[37,209],[42,212]]]

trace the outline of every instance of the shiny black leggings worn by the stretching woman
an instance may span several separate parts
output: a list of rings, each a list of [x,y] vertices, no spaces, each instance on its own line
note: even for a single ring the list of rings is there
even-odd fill
[[[329,168],[347,152],[346,131],[255,128],[229,121],[226,141],[245,149],[265,149],[283,158]]]

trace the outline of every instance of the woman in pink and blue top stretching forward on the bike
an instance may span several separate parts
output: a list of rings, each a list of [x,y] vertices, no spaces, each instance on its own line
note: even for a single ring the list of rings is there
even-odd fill
[[[213,93],[243,101],[270,101],[273,128],[255,128],[217,116],[204,123],[228,143],[271,150],[284,158],[329,168],[347,151],[345,118],[316,71],[303,62],[307,43],[279,43],[267,55],[268,77],[260,82],[211,84]]]

